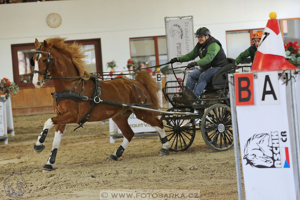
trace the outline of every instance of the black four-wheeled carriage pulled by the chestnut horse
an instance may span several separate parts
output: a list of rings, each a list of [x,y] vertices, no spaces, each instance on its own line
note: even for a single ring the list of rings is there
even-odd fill
[[[173,108],[168,111],[187,111],[191,114],[164,114],[164,128],[170,143],[170,151],[187,150],[194,141],[196,130],[214,151],[226,151],[233,147],[233,132],[230,112],[227,74],[235,72],[235,60],[227,58],[228,64],[215,74],[200,98],[181,80],[168,81],[163,88],[166,100]],[[168,86],[177,82],[178,86]],[[170,90],[179,92],[170,92]]]

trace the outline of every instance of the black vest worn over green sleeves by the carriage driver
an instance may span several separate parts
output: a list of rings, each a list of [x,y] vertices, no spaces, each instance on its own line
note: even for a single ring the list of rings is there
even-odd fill
[[[222,44],[215,39],[212,36],[209,36],[207,41],[204,44],[200,44],[199,42],[196,45],[197,53],[199,58],[204,58],[207,53],[207,47],[211,43],[216,42],[218,45],[220,45],[220,51],[217,53],[215,58],[213,58],[212,62],[202,66],[203,68],[210,68],[210,67],[223,67],[224,65],[228,64],[226,54],[224,52],[224,49],[222,48]]]

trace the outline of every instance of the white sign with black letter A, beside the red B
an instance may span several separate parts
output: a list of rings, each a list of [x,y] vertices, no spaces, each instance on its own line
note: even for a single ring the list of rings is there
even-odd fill
[[[278,72],[257,72],[260,105],[280,104]]]

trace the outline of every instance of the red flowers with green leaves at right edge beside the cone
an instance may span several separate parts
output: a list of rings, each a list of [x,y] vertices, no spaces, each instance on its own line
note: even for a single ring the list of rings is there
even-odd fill
[[[288,42],[284,45],[284,48],[287,60],[297,68],[300,68],[300,47],[298,46],[298,42]]]

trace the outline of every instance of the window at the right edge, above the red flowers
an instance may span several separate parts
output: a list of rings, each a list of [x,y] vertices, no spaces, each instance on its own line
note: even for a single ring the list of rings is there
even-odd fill
[[[300,18],[280,19],[283,43],[298,42],[300,44]]]

